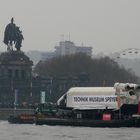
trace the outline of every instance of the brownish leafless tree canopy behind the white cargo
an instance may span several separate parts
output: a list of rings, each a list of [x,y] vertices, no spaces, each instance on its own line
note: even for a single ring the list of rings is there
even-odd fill
[[[84,73],[89,78],[88,86],[113,86],[114,82],[138,81],[133,72],[120,67],[109,57],[92,59],[84,54],[40,61],[34,71],[48,77],[74,77]]]

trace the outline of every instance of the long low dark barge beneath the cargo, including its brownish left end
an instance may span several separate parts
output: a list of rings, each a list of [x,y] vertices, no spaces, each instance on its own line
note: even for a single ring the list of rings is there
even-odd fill
[[[36,125],[62,125],[62,126],[85,126],[85,127],[140,127],[140,116],[126,120],[92,120],[77,118],[36,117],[32,115],[10,116],[9,123],[36,124]]]

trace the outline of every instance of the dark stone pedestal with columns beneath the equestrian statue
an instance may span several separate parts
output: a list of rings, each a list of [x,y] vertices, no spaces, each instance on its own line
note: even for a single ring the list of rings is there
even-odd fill
[[[18,103],[29,100],[32,65],[22,51],[7,51],[0,55],[0,105],[13,105],[15,90],[18,90]]]

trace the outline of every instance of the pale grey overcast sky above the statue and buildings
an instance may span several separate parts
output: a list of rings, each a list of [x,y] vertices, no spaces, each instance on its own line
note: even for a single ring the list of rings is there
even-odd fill
[[[0,51],[11,17],[23,31],[23,51],[53,51],[62,34],[93,53],[140,47],[140,0],[0,0]]]

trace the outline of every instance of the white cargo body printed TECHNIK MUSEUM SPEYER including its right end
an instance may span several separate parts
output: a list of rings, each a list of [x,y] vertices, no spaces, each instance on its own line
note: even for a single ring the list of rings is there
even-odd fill
[[[58,101],[58,106],[78,110],[113,109],[124,103],[138,103],[139,86],[115,83],[114,87],[73,87]]]

